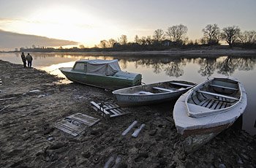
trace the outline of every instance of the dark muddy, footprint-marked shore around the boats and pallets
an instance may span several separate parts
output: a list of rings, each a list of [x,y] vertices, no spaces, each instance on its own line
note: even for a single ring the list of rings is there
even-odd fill
[[[186,156],[172,119],[175,101],[129,107],[131,114],[105,120],[90,102],[115,102],[111,91],[56,84],[58,77],[1,60],[0,79],[0,167],[104,167],[111,156],[121,159],[118,167],[256,165],[256,136],[238,122]],[[78,137],[54,128],[77,112],[101,121]],[[131,136],[134,129],[121,136],[135,120],[146,124],[138,137]]]

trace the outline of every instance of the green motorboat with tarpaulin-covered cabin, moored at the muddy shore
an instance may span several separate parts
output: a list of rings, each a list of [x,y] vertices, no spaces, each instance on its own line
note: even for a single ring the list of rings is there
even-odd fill
[[[116,90],[140,85],[142,75],[124,72],[118,60],[79,60],[71,67],[59,70],[72,82]]]

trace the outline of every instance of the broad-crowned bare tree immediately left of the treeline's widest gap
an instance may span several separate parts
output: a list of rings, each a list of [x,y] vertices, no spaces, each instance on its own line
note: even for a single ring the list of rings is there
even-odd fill
[[[186,38],[185,35],[187,34],[187,26],[182,24],[171,26],[167,28],[165,33],[170,38],[170,41],[183,42],[184,38]]]

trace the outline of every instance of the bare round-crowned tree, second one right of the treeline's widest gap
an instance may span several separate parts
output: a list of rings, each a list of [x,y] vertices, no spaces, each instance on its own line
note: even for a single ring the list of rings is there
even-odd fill
[[[222,39],[225,40],[230,47],[233,47],[233,43],[236,42],[240,34],[240,28],[238,28],[238,26],[229,26],[222,30]]]

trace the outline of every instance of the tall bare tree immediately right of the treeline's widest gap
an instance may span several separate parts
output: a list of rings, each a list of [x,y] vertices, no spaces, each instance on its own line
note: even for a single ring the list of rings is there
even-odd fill
[[[208,24],[202,31],[203,37],[206,38],[208,45],[217,44],[219,42],[220,29],[217,24]]]

